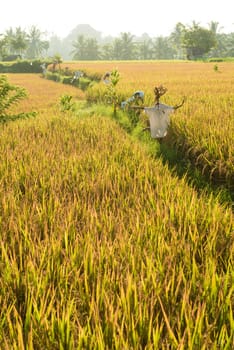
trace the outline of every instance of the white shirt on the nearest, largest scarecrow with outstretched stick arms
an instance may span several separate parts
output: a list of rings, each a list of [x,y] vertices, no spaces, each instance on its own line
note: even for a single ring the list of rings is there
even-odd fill
[[[152,138],[162,138],[167,134],[170,125],[170,114],[175,107],[157,103],[154,107],[144,107],[145,113],[149,117],[150,133]]]

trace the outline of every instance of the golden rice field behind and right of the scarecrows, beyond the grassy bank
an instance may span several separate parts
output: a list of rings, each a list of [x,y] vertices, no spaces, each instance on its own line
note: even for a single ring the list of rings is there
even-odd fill
[[[154,87],[164,85],[168,93],[162,101],[177,105],[185,97],[184,106],[172,117],[168,142],[207,174],[214,182],[234,183],[234,63],[221,62],[77,62],[71,69],[105,73],[118,69],[121,100],[134,91],[145,92],[145,105],[154,103]],[[216,69],[215,69],[216,67]],[[105,94],[101,84],[89,96]],[[95,97],[94,97],[95,99]]]

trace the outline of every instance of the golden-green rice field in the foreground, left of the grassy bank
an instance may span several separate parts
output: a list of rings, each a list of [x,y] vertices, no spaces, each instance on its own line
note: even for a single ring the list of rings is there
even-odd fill
[[[17,108],[38,115],[0,127],[0,349],[231,350],[231,209],[115,120],[62,113],[78,89],[9,79],[29,92]]]

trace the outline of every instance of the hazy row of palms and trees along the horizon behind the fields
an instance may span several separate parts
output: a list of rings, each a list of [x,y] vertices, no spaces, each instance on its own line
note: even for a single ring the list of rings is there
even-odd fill
[[[193,22],[186,26],[177,23],[166,37],[140,38],[129,32],[108,41],[78,34],[70,43],[57,36],[45,40],[45,33],[36,26],[29,32],[21,27],[10,28],[0,34],[0,59],[37,59],[61,55],[72,60],[151,60],[151,59],[204,59],[234,57],[234,33],[219,33],[219,23],[204,28]]]

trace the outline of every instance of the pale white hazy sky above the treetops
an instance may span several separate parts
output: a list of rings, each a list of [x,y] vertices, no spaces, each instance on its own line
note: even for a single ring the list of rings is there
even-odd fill
[[[0,5],[0,34],[10,27],[28,31],[36,25],[66,37],[78,24],[90,24],[103,36],[121,32],[152,37],[169,35],[177,22],[192,21],[208,28],[219,23],[221,33],[234,32],[233,0],[4,0]]]

